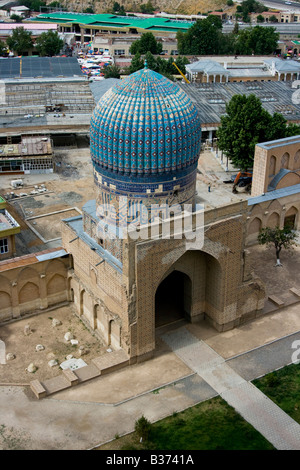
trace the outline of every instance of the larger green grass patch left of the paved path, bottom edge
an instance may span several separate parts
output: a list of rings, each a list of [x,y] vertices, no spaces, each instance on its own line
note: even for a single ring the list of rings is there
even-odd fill
[[[120,437],[98,450],[271,450],[258,431],[222,398],[215,397],[151,425],[149,439],[137,433]]]

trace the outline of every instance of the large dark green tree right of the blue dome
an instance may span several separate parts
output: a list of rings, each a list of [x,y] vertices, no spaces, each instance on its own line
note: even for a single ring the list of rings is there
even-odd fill
[[[254,94],[234,95],[226,105],[217,131],[218,147],[242,170],[252,168],[255,145],[299,133],[299,126],[287,126],[281,114],[269,114]]]

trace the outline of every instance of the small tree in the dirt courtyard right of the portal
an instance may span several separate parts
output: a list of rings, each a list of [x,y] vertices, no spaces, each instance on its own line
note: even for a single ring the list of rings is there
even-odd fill
[[[274,247],[276,252],[276,265],[282,266],[280,262],[280,253],[282,248],[286,250],[292,248],[295,245],[296,233],[287,226],[280,229],[275,228],[262,228],[258,234],[258,243],[260,245],[266,245],[267,247]]]

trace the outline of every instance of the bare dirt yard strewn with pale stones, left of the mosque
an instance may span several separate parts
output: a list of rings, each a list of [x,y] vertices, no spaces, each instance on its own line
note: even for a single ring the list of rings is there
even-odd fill
[[[61,325],[52,326],[53,319],[59,320]],[[30,325],[31,330],[28,336],[24,334],[26,325]],[[78,340],[78,344],[72,345],[64,339],[68,332]],[[93,358],[104,354],[107,349],[69,306],[1,325],[0,339],[5,343],[6,354],[12,353],[15,356],[6,364],[0,364],[0,384],[29,384],[34,379],[50,379],[61,374],[59,364],[68,355],[90,364]],[[37,345],[42,345],[44,349],[36,351]],[[82,356],[79,349],[81,346],[86,352]],[[51,360],[57,360],[58,365],[50,367],[48,363]],[[31,363],[37,367],[35,373],[26,370]]]

